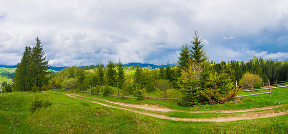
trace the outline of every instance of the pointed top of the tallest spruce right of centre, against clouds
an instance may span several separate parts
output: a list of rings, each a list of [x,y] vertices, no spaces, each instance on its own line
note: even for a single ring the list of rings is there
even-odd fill
[[[203,44],[201,39],[199,39],[199,35],[197,35],[198,32],[195,31],[195,36],[193,36],[193,41],[191,41],[191,43],[193,44],[193,46],[191,46],[192,50],[191,53],[191,57],[192,59],[196,62],[196,63],[201,63],[204,62],[204,58],[203,58]]]

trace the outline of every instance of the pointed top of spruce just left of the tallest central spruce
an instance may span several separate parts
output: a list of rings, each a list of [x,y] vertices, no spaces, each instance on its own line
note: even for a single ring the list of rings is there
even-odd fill
[[[190,54],[190,50],[189,50],[188,45],[186,43],[185,45],[182,45],[180,56],[178,57],[178,61],[177,61],[180,68],[187,68],[188,60],[189,60],[189,54]]]

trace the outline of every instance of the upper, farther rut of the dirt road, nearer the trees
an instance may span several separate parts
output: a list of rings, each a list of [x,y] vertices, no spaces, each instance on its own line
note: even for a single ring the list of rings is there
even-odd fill
[[[76,95],[78,97],[85,97],[81,95]],[[85,98],[92,98],[92,97],[85,97]],[[172,111],[178,111],[178,112],[190,112],[190,113],[207,113],[207,112],[222,112],[222,113],[234,113],[234,112],[249,112],[249,111],[255,111],[255,110],[268,110],[268,109],[273,109],[277,107],[281,107],[282,105],[278,106],[272,106],[272,107],[262,107],[262,108],[253,108],[253,109],[240,109],[240,110],[213,110],[213,111],[184,111],[184,110],[173,110],[167,107],[159,107],[156,105],[136,105],[136,104],[127,104],[127,103],[121,103],[121,102],[113,102],[113,101],[108,101],[108,100],[103,100],[103,99],[97,99],[97,98],[92,98],[96,100],[101,100],[105,102],[109,102],[112,104],[117,104],[121,106],[126,106],[126,107],[133,107],[133,108],[139,108],[139,109],[145,109],[145,110],[152,110],[152,111],[161,111],[161,112],[172,112]]]

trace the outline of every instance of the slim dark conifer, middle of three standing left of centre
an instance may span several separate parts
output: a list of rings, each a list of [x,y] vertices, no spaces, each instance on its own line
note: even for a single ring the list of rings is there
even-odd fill
[[[109,86],[115,86],[115,80],[116,80],[116,70],[114,69],[114,63],[109,61],[107,64],[107,71],[106,71],[106,77],[107,77],[107,83]]]

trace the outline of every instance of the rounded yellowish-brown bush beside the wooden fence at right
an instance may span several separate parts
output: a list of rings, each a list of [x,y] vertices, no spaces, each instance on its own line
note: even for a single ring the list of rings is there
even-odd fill
[[[259,75],[251,74],[246,72],[243,74],[242,78],[240,79],[239,85],[242,86],[242,89],[258,89],[261,87],[262,79]]]

